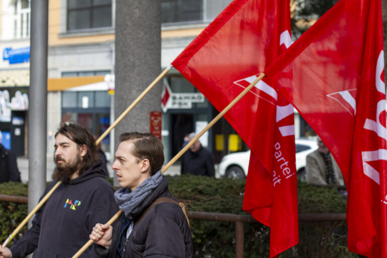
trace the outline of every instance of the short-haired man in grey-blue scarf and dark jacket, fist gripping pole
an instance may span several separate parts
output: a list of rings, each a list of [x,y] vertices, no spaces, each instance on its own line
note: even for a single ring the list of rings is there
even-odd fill
[[[114,227],[95,225],[90,239],[98,244],[97,254],[109,258],[192,257],[189,225],[161,174],[161,141],[151,134],[134,132],[122,134],[120,142],[112,169],[122,187],[114,198],[123,215]],[[173,201],[156,201],[165,199]]]

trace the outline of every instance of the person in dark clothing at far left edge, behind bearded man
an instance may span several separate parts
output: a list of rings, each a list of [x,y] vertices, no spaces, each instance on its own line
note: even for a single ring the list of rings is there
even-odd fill
[[[6,149],[1,142],[2,132],[0,131],[0,183],[21,182],[15,153]]]

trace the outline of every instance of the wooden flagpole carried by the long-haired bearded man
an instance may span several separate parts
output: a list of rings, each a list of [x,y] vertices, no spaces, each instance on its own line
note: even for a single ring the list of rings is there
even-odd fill
[[[98,145],[109,133],[113,128],[129,113],[139,102],[142,98],[144,98],[145,95],[148,94],[148,92],[171,70],[172,66],[168,66],[164,71],[136,98],[136,100],[126,108],[125,111],[107,128],[107,130],[95,141],[95,144]],[[52,195],[54,190],[62,183],[62,181],[58,181],[49,192],[44,196],[44,198],[38,203],[38,205],[27,215],[27,217],[22,221],[22,223],[7,237],[6,241],[2,244],[2,248],[6,247],[7,244],[12,240],[12,238],[15,237],[15,235],[22,229],[22,227],[28,222],[29,219],[40,209],[40,207],[43,206],[43,204],[47,201],[47,199]],[[119,212],[118,212],[119,213]],[[118,214],[117,213],[117,214]],[[113,218],[115,218],[114,215]],[[119,214],[120,215],[120,214]],[[118,215],[118,217],[119,217]],[[118,218],[117,217],[117,218]],[[112,218],[112,219],[113,219]],[[117,218],[115,218],[111,223],[113,223]]]

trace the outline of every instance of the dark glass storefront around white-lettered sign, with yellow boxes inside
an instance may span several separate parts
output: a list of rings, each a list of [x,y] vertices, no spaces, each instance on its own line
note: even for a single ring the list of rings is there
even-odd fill
[[[168,76],[166,80],[172,94],[199,92],[182,76],[172,75]],[[167,146],[168,150],[166,156],[169,159],[174,157],[181,150],[186,134],[195,131],[199,133],[218,114],[218,110],[207,99],[204,102],[192,103],[191,108],[168,109],[163,114],[163,130],[168,131],[168,137],[163,139],[164,146]],[[207,138],[202,139],[202,141],[212,151],[215,163],[219,163],[224,155],[231,152],[248,150],[248,147],[225,118],[216,122],[207,132]]]

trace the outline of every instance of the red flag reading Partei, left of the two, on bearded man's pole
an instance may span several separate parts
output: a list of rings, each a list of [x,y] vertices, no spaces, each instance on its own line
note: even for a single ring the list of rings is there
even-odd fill
[[[236,0],[192,41],[172,66],[218,110],[223,110],[275,60],[280,45],[282,48],[290,45],[289,30],[288,0]],[[250,147],[251,156],[256,157],[253,175],[248,174],[244,201],[247,206],[243,208],[271,226],[271,257],[298,242],[296,176],[292,175],[295,157],[291,157],[295,156],[292,111],[278,96],[277,86],[264,80],[225,114]],[[276,118],[281,128],[275,127]],[[282,132],[283,139],[274,132]],[[281,153],[281,157],[276,158],[275,153]],[[274,189],[276,163],[282,165],[284,183]],[[272,190],[278,191],[276,196]],[[273,202],[279,201],[280,196],[283,199],[272,211]]]

